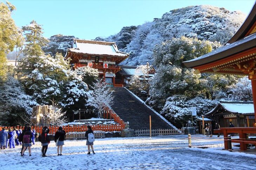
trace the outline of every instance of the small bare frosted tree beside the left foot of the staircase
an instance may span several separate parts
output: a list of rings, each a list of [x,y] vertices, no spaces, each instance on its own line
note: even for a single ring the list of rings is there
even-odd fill
[[[99,117],[102,118],[103,109],[113,104],[114,96],[103,80],[97,80],[92,89],[93,91],[90,91],[87,100],[87,106],[93,106],[99,109]]]

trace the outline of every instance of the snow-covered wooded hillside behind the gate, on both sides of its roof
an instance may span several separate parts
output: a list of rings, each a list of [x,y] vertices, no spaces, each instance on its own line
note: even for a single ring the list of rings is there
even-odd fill
[[[156,44],[173,37],[197,37],[200,40],[219,41],[224,44],[240,27],[245,15],[230,12],[225,8],[207,5],[189,6],[174,9],[140,26],[123,27],[121,31],[109,37],[96,37],[99,41],[116,42],[120,51],[130,53],[130,57],[121,64],[140,65],[153,63],[153,50]],[[49,38],[49,47],[44,48],[51,55],[57,51],[65,54],[71,47],[74,36],[54,35]]]

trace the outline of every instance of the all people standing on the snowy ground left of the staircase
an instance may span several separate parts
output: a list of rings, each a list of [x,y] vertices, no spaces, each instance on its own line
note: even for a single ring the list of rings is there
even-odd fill
[[[94,148],[93,148],[93,142],[91,140],[88,140],[89,138],[94,139],[94,135],[92,137],[90,136],[91,134],[93,134],[93,130],[90,126],[87,126],[87,128],[88,130],[86,131],[86,134],[85,134],[85,137],[87,139],[86,145],[88,146],[87,154],[90,155],[90,147],[92,149],[93,154],[95,154]],[[41,135],[37,135],[37,136],[36,136],[37,133],[35,132],[34,129],[31,129],[31,127],[25,126],[23,130],[18,129],[19,132],[16,132],[16,130],[17,129],[15,129],[15,131],[12,129],[9,129],[9,131],[7,132],[5,128],[2,128],[2,130],[0,131],[1,149],[7,148],[8,146],[7,142],[9,142],[10,148],[15,148],[14,141],[16,141],[17,139],[16,144],[22,145],[21,152],[20,152],[21,156],[24,156],[24,153],[27,148],[28,148],[29,156],[31,156],[32,143],[35,144],[35,139],[38,137],[38,140],[41,142],[41,146],[42,146],[41,155],[42,157],[46,157],[48,144],[50,143],[50,138],[48,135],[50,130],[47,126],[43,127]],[[15,136],[16,136],[16,139],[15,139]],[[54,135],[54,142],[56,143],[58,156],[62,156],[62,147],[64,145],[65,136],[66,136],[65,130],[63,130],[62,127],[59,127],[58,131]]]

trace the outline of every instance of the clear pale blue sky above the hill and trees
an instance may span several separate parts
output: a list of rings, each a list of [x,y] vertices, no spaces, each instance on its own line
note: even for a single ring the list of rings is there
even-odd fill
[[[191,5],[212,5],[246,15],[254,0],[9,0],[15,7],[13,19],[17,26],[32,20],[43,25],[44,36],[74,35],[94,39],[116,34],[124,26],[140,25],[160,18],[172,9]]]

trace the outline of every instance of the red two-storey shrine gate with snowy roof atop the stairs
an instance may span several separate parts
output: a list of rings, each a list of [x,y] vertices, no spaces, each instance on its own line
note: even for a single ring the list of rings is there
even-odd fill
[[[90,66],[98,69],[100,78],[109,86],[121,87],[116,83],[115,74],[121,70],[117,64],[129,56],[118,50],[115,42],[74,39],[72,48],[67,50],[66,58],[71,58],[73,68]]]

